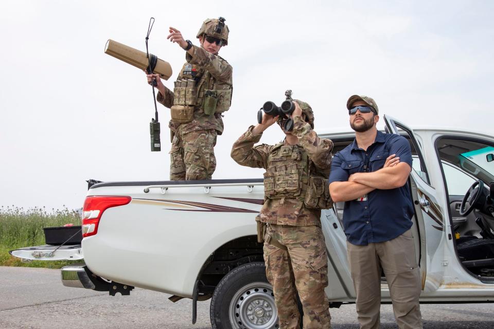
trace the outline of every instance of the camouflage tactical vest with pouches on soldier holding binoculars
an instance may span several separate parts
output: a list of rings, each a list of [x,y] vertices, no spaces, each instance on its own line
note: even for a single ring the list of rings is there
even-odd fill
[[[332,207],[327,177],[324,177],[299,145],[274,145],[264,173],[264,197],[294,198],[310,209]]]

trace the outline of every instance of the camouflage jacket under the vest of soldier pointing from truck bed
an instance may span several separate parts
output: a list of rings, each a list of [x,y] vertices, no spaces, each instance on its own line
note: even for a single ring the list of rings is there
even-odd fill
[[[189,133],[192,131],[214,129],[218,132],[218,135],[223,133],[223,119],[221,113],[217,112],[213,115],[206,115],[201,108],[202,97],[204,90],[212,88],[212,86],[221,86],[220,88],[230,88],[233,87],[232,82],[232,65],[228,64],[221,57],[206,51],[204,48],[193,46],[194,54],[190,56],[186,52],[186,63],[184,64],[182,70],[179,72],[177,80],[182,80],[184,75],[185,67],[188,64],[192,64],[199,68],[199,75],[204,76],[209,72],[210,78],[206,83],[196,86],[199,88],[197,90],[197,103],[194,110],[194,117],[191,122],[178,123],[170,120],[168,126],[172,131],[178,133]],[[166,93],[163,95],[161,92],[158,93],[156,100],[166,107],[170,108],[173,105],[173,90],[166,88]]]

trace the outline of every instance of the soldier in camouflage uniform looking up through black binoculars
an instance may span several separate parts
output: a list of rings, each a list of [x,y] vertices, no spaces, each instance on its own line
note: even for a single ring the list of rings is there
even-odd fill
[[[304,328],[329,328],[327,254],[321,229],[321,209],[330,207],[327,178],[333,143],[313,131],[310,106],[295,102],[294,127],[287,118],[263,113],[235,142],[232,158],[242,166],[264,168],[264,205],[256,218],[267,223],[264,235],[266,275],[273,285],[280,328],[299,328],[296,293],[304,310]],[[276,145],[254,146],[262,132],[277,122],[286,134]]]

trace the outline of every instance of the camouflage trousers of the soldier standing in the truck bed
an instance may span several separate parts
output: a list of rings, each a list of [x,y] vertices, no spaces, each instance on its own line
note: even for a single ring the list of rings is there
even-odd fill
[[[170,180],[211,179],[216,169],[214,129],[178,132],[170,150]]]

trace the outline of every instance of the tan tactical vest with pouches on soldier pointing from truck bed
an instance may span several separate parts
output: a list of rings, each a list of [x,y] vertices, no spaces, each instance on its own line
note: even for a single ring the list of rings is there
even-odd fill
[[[192,121],[194,112],[214,115],[228,111],[232,103],[232,86],[218,83],[209,71],[185,63],[173,89],[171,119]]]

